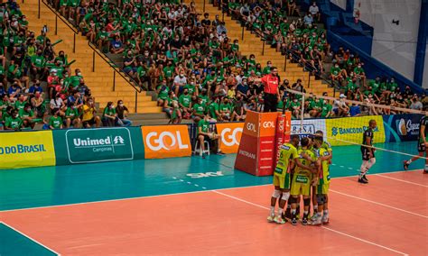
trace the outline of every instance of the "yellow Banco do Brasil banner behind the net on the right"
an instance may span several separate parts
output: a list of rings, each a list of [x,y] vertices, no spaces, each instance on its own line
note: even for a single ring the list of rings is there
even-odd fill
[[[363,133],[372,119],[377,123],[373,143],[385,142],[384,121],[381,115],[326,119],[327,140],[332,146],[352,144],[349,142],[361,144]]]

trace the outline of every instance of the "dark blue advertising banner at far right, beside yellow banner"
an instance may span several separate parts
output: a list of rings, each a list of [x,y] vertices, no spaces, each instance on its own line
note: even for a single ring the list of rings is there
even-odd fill
[[[422,114],[384,115],[386,142],[417,141]]]

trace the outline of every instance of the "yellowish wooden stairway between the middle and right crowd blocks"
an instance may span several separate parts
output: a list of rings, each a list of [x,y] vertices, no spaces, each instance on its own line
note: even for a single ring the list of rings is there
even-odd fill
[[[200,14],[203,13],[203,3],[206,0],[193,0],[196,4],[196,8]],[[186,4],[189,4],[191,0],[185,0]],[[215,15],[219,15],[219,19],[222,19],[222,13],[213,5],[206,1],[205,13],[209,14],[211,20],[214,19]],[[236,20],[232,20],[228,15],[224,15],[224,22],[228,29],[229,41],[237,39],[239,41],[239,50],[242,55],[249,56],[250,54],[256,55],[256,61],[262,64],[262,67],[266,66],[268,60],[272,61],[272,65],[278,68],[278,74],[282,79],[287,78],[290,84],[293,84],[298,78],[302,79],[307,93],[313,93],[315,95],[321,95],[323,92],[327,92],[329,96],[333,96],[334,89],[326,84],[323,84],[321,80],[316,80],[314,76],[309,78],[309,72],[303,71],[302,67],[299,67],[296,63],[291,63],[287,59],[285,64],[285,57],[271,48],[270,45],[265,45],[265,52],[263,52],[263,41],[256,34],[253,34],[247,30],[244,30],[244,40],[242,40],[242,27]],[[264,53],[264,54],[262,54]],[[286,71],[284,72],[284,66],[286,65]]]

